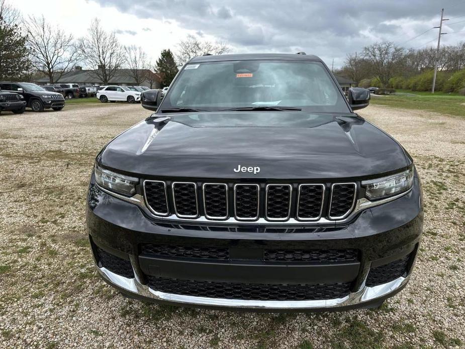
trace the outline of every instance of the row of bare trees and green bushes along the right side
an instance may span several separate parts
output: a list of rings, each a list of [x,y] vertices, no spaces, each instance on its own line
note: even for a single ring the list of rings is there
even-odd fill
[[[361,87],[430,91],[436,65],[436,90],[465,95],[465,42],[439,48],[406,49],[393,42],[365,46],[348,54],[337,73]]]

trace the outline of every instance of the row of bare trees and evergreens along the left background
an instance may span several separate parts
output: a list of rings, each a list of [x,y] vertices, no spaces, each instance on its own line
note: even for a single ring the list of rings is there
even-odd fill
[[[21,28],[25,28],[21,30]],[[106,31],[95,18],[87,34],[75,38],[64,29],[48,23],[43,16],[22,18],[7,0],[0,0],[0,79],[30,81],[35,74],[56,83],[77,65],[108,84],[119,69],[128,69],[136,85],[159,81],[168,86],[178,67],[192,57],[229,51],[223,43],[202,42],[189,36],[177,44],[178,50],[161,51],[153,62],[142,47],[124,46],[115,32]]]

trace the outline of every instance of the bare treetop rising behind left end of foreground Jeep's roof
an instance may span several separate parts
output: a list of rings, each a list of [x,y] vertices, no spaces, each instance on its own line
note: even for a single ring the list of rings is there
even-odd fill
[[[182,65],[191,58],[202,56],[206,53],[224,54],[230,51],[230,47],[222,42],[199,41],[190,35],[187,39],[177,44],[176,63]]]

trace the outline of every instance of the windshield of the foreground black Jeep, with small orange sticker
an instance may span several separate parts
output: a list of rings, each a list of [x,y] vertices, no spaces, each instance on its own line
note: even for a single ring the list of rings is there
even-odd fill
[[[320,62],[241,60],[188,64],[171,85],[163,109],[219,111],[298,107],[348,113],[344,97]]]

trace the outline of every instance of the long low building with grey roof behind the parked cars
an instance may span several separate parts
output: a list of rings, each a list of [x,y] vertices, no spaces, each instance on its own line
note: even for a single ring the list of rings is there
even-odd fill
[[[160,77],[158,74],[151,70],[143,69],[142,74],[149,76],[151,74],[153,80],[150,85],[150,80],[146,79],[140,85],[147,86],[152,89],[160,88]],[[48,77],[41,77],[34,81],[38,85],[45,85],[49,83]],[[101,86],[103,81],[97,77],[95,70],[82,69],[80,66],[75,66],[74,69],[66,74],[63,74],[55,83],[77,83],[79,85],[94,85]],[[120,86],[134,86],[137,85],[136,80],[131,74],[130,69],[118,69],[115,76],[112,77],[108,84]]]

